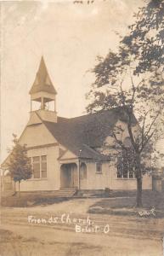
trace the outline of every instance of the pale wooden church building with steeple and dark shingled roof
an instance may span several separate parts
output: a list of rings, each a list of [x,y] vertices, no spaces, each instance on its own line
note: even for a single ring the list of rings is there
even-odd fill
[[[20,144],[27,146],[33,174],[21,181],[20,191],[136,189],[130,167],[118,172],[117,157],[111,157],[116,149],[110,131],[118,124],[127,127],[123,109],[63,118],[57,115],[56,95],[42,57],[30,90],[30,119],[19,139]],[[136,127],[134,121],[134,130]],[[123,143],[129,143],[127,129]],[[9,156],[3,162],[3,171],[8,159]],[[143,177],[143,189],[152,189],[149,175]]]

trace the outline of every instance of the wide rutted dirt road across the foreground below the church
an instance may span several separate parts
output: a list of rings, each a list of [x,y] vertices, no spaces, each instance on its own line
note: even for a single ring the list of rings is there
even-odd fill
[[[82,201],[67,201],[48,207],[3,208],[1,229],[20,238],[7,238],[5,246],[2,242],[1,255],[162,256],[163,219],[88,214],[90,203],[93,201],[84,205]],[[29,222],[29,217],[40,223]],[[49,223],[51,217],[56,223]],[[89,221],[92,227],[100,227],[98,232],[76,232],[76,224],[85,228]],[[105,225],[110,228],[106,234]]]

